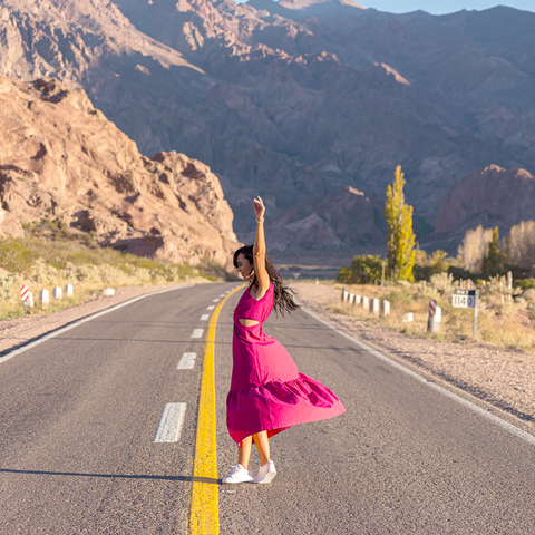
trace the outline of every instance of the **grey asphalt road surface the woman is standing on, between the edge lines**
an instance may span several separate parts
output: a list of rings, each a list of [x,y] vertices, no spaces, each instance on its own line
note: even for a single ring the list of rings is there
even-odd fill
[[[187,532],[201,317],[235,285],[146,298],[0,364],[0,534]],[[220,477],[236,455],[225,397],[240,293],[217,323]],[[220,486],[222,534],[535,533],[533,445],[303,311],[265,330],[348,411],[274,437],[272,485]],[[193,370],[176,369],[184,352]],[[186,403],[181,438],[155,444],[169,402]]]

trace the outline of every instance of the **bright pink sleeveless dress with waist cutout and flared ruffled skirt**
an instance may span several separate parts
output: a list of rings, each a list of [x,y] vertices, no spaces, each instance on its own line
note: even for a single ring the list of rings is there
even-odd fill
[[[296,424],[333,418],[346,408],[327,387],[300,373],[279,340],[268,337],[262,323],[273,309],[273,285],[262,299],[245,290],[234,310],[232,381],[226,397],[226,425],[240,442],[268,431],[272,437]],[[245,327],[239,320],[256,320]]]

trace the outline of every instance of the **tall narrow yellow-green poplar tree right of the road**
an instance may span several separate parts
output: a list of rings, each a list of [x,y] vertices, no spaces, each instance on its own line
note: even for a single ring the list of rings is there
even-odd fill
[[[405,204],[406,184],[401,166],[396,167],[396,179],[387,187],[385,217],[388,224],[388,272],[397,281],[414,281],[415,241],[412,233],[412,206]]]

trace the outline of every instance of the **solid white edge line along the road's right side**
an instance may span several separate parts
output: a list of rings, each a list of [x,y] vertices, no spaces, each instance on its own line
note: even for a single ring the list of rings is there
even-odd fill
[[[421,377],[420,374],[416,373],[415,371],[410,370],[409,368],[406,368],[405,366],[400,364],[399,362],[396,362],[395,360],[391,360],[389,359],[388,357],[386,357],[385,354],[382,354],[381,352],[370,348],[369,346],[367,346],[366,343],[361,342],[360,340],[357,340],[356,338],[353,338],[351,334],[348,334],[347,332],[343,332],[341,331],[340,329],[337,329],[332,323],[330,323],[329,321],[324,320],[323,318],[321,318],[320,315],[315,314],[314,312],[310,311],[309,309],[307,309],[305,307],[301,307],[301,309],[307,312],[309,315],[311,315],[312,318],[314,318],[315,320],[320,321],[321,323],[325,324],[327,327],[329,327],[330,329],[332,329],[333,331],[335,331],[338,334],[341,334],[343,338],[346,338],[347,340],[349,340],[350,342],[354,343],[356,346],[358,346],[359,348],[363,349],[364,351],[369,352],[370,354],[372,354],[373,357],[382,360],[383,362],[386,362],[387,364],[391,366],[392,368],[396,368],[397,370],[399,371],[402,371],[403,373],[406,373],[407,376],[411,377],[412,379],[416,379],[417,381],[419,382],[422,382],[424,385],[427,385],[428,387],[432,388],[434,390],[436,390],[437,392],[440,392],[441,395],[448,397],[449,399],[454,400],[454,401],[457,401],[458,403],[463,405],[464,407],[466,407],[467,409],[471,410],[473,412],[476,412],[477,415],[479,416],[483,416],[484,418],[486,418],[487,420],[490,420],[493,421],[494,424],[498,425],[499,427],[506,429],[507,431],[509,431],[510,434],[515,435],[516,437],[518,438],[522,438],[523,440],[525,440],[526,442],[531,444],[532,446],[535,446],[535,437],[533,435],[529,435],[528,432],[526,431],[523,431],[522,429],[519,429],[518,427],[514,426],[513,424],[509,424],[508,421],[506,420],[503,420],[502,418],[499,418],[498,416],[495,416],[493,415],[492,412],[489,412],[488,410],[485,410],[485,409],[481,409],[480,407],[478,407],[477,405],[466,400],[465,398],[461,398],[460,396],[457,396],[456,393],[454,392],[450,392],[449,390],[438,386],[437,383],[435,382],[431,382],[431,381],[428,381],[426,378]]]

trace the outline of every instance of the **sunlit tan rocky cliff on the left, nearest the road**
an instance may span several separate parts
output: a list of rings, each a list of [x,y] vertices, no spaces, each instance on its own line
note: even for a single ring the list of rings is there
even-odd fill
[[[82,89],[0,76],[0,235],[51,220],[139,255],[228,265],[239,243],[217,177],[175,152],[142,156]]]

